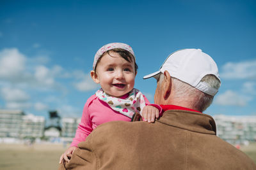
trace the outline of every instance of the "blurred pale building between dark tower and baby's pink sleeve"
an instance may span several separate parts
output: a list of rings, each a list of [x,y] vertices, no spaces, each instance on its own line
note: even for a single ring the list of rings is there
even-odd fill
[[[78,124],[81,118],[61,118],[61,136],[63,141],[71,142],[75,137]]]

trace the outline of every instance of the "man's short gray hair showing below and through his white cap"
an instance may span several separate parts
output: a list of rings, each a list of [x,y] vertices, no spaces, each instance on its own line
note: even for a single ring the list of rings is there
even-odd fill
[[[159,83],[163,81],[164,74],[161,73],[159,77]],[[201,81],[205,81],[205,83],[208,83],[211,87],[214,87],[216,89],[219,89],[220,87],[220,80],[216,78],[216,76],[212,74],[208,74],[202,78]],[[187,100],[191,102],[191,99],[193,99],[193,108],[196,108],[198,111],[205,111],[212,103],[213,97],[209,94],[205,94],[204,92],[201,92],[200,90],[196,89],[195,87],[192,87],[188,83],[185,83],[183,81],[178,80],[177,78],[172,77],[172,87],[173,92],[175,92],[174,99],[176,101],[184,101]]]

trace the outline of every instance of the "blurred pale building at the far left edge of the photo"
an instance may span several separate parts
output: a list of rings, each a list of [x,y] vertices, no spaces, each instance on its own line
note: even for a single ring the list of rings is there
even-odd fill
[[[0,110],[0,138],[20,138],[23,116],[20,110]]]

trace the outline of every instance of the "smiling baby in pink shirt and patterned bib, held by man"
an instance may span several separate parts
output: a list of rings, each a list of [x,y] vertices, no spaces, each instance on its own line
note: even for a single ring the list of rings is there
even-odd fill
[[[134,89],[134,79],[138,66],[131,46],[124,43],[109,43],[95,54],[91,76],[99,89],[84,105],[81,123],[70,147],[60,157],[59,163],[69,161],[77,144],[98,125],[111,121],[131,122],[134,113],[139,113],[145,121],[154,122],[159,117],[161,107],[149,104],[148,99],[138,89]]]

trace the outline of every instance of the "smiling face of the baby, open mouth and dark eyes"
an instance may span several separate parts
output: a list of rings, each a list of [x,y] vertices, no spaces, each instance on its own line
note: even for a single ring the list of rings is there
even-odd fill
[[[118,53],[109,52],[109,54],[106,53],[102,56],[97,64],[97,80],[99,80],[100,86],[106,94],[121,97],[134,87],[136,76],[134,59],[132,59],[132,62],[128,62]]]

